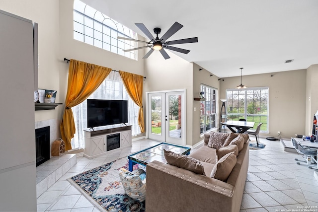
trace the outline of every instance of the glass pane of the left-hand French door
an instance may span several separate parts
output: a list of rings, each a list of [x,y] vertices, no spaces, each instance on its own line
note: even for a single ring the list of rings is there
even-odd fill
[[[151,97],[151,133],[161,135],[161,96]]]

